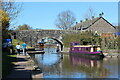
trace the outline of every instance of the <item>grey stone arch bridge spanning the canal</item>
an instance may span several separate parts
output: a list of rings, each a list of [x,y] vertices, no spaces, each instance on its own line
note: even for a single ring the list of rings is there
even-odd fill
[[[36,45],[39,41],[44,38],[51,38],[57,41],[61,46],[64,46],[63,35],[78,33],[76,30],[21,30],[14,31],[14,38],[25,41],[31,46]],[[63,48],[63,47],[62,47]],[[61,50],[62,50],[61,48]]]

